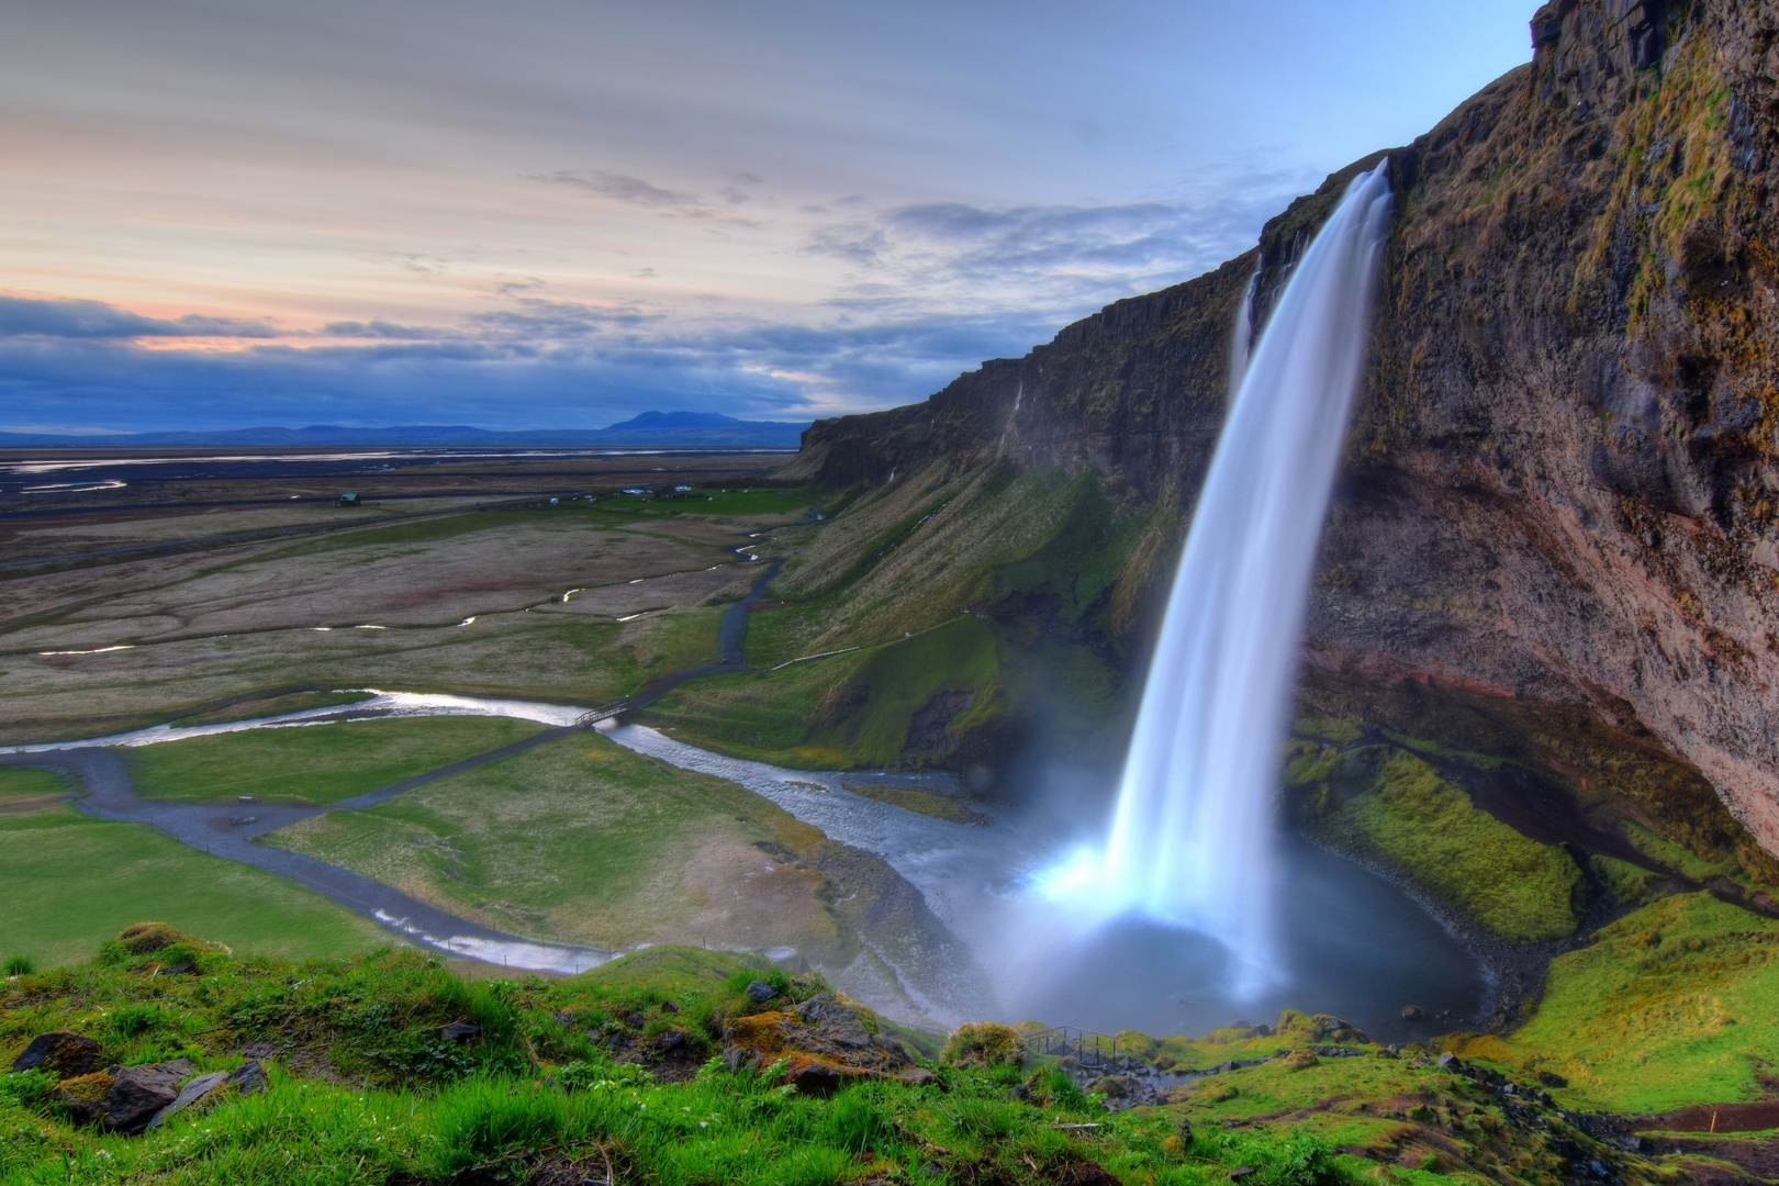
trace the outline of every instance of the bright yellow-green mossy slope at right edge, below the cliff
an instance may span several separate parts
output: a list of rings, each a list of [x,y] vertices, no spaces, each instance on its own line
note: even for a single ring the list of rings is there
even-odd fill
[[[1767,1095],[1779,1051],[1779,923],[1704,893],[1621,918],[1551,962],[1537,1014],[1455,1049],[1553,1070],[1585,1108],[1660,1113]]]

